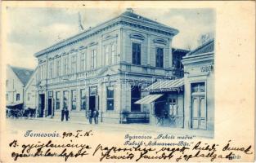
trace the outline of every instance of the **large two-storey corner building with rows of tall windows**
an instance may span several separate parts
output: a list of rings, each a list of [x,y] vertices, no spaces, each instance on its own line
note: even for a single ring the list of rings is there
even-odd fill
[[[155,77],[173,75],[172,39],[178,33],[131,9],[92,29],[35,54],[38,58],[38,112],[84,120],[99,110],[100,121],[119,123],[122,113],[147,121],[149,109],[135,104]]]

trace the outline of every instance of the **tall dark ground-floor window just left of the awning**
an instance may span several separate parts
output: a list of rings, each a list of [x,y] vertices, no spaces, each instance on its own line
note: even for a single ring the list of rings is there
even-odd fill
[[[141,99],[141,87],[131,86],[131,112],[141,112],[141,105],[134,104],[139,99]]]

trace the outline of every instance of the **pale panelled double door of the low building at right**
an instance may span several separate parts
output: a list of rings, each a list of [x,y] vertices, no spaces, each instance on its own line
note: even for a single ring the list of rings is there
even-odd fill
[[[192,96],[191,128],[206,130],[206,103],[204,96]]]

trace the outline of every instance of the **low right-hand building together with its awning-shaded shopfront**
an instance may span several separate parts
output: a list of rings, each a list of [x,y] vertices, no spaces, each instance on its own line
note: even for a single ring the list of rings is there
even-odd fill
[[[182,64],[184,77],[155,81],[136,104],[150,107],[151,125],[206,130],[213,136],[214,40],[187,53]]]

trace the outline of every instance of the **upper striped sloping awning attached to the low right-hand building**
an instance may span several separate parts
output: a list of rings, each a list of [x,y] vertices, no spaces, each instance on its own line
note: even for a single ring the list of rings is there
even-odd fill
[[[184,85],[184,78],[174,79],[174,80],[160,80],[156,81],[150,86],[146,87],[144,90],[148,91],[172,91],[179,90],[180,87]]]

